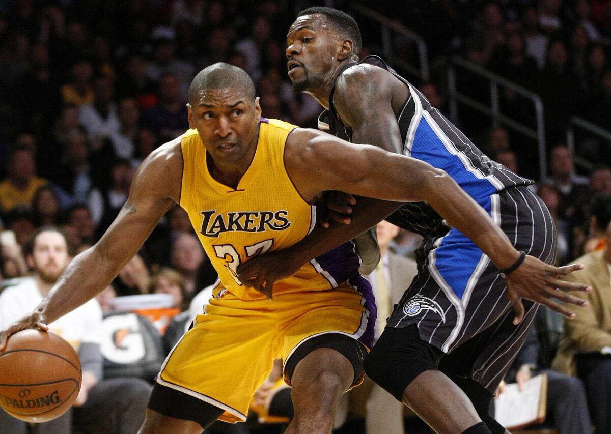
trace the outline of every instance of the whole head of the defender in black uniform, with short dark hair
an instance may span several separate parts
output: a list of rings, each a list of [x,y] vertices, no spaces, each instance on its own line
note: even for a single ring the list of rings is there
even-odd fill
[[[340,63],[359,59],[360,47],[359,25],[347,13],[330,7],[302,10],[287,34],[287,67],[293,89],[320,89]]]

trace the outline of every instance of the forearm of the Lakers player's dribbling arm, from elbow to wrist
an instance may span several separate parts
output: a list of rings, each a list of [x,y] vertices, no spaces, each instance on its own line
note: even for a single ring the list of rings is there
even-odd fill
[[[111,283],[124,264],[112,261],[95,246],[76,256],[35,309],[47,324],[78,308]]]

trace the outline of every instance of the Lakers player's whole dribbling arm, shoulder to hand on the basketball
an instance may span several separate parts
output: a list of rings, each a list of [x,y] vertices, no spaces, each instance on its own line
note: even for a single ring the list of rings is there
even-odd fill
[[[147,239],[173,201],[180,198],[182,155],[171,143],[142,163],[119,215],[93,247],[70,262],[51,291],[29,316],[0,332],[6,339],[24,328],[41,328],[103,291]]]

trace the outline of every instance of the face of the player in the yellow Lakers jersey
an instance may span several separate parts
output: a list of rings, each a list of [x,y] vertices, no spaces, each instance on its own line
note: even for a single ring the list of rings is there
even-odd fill
[[[216,164],[240,164],[252,155],[261,120],[259,98],[254,101],[232,89],[202,89],[189,104],[189,125],[197,129]]]

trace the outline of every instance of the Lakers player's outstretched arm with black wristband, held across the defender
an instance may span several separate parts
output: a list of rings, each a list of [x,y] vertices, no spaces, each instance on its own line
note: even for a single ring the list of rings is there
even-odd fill
[[[469,237],[498,269],[507,269],[521,256],[481,206],[447,173],[426,162],[390,154],[375,146],[351,145],[318,131],[298,129],[287,141],[285,165],[304,198],[316,197],[321,190],[340,190],[384,200],[426,201],[450,226]],[[573,317],[571,311],[550,298],[584,305],[579,298],[556,291],[557,288],[586,291],[587,285],[557,279],[558,275],[580,268],[578,265],[557,268],[528,256],[507,279],[510,298],[514,306],[520,297],[525,297]],[[249,277],[241,272],[243,281]],[[258,277],[255,288],[261,283]],[[518,312],[516,320],[520,319]]]

